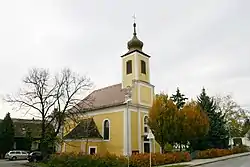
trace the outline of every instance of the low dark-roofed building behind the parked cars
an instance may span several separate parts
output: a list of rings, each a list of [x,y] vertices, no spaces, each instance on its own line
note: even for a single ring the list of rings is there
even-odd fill
[[[15,118],[12,121],[15,130],[13,149],[27,151],[39,149],[41,121]]]

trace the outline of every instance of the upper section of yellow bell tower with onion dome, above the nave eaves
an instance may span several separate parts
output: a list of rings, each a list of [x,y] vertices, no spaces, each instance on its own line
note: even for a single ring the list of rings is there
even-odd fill
[[[143,42],[138,39],[136,23],[133,37],[127,43],[128,52],[122,58],[122,88],[132,87],[132,103],[150,106],[153,103],[154,86],[150,84],[150,56],[143,52]]]

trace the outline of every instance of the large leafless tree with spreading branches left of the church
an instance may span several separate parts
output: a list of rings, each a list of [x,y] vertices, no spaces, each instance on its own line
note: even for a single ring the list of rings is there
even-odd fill
[[[23,87],[17,95],[7,95],[5,100],[17,110],[26,109],[29,114],[38,114],[41,119],[41,138],[54,127],[52,137],[60,132],[65,118],[74,120],[82,114],[81,104],[91,105],[91,98],[82,100],[80,95],[92,88],[87,77],[79,76],[70,69],[64,69],[57,75],[50,75],[47,69],[34,68],[23,80]],[[45,143],[46,145],[46,143]],[[41,145],[41,149],[42,149]],[[46,146],[44,146],[46,147]]]

